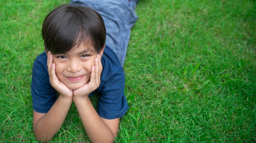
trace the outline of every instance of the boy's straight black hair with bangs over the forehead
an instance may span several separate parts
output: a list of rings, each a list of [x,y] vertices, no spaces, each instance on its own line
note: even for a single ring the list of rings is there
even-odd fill
[[[64,4],[51,11],[43,22],[45,50],[63,54],[80,44],[90,44],[97,53],[106,41],[106,28],[97,11]]]

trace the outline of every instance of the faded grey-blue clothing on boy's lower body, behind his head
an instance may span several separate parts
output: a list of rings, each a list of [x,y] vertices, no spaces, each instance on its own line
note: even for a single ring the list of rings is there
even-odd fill
[[[135,7],[138,0],[72,0],[75,6],[87,6],[101,14],[106,26],[106,45],[117,54],[124,65],[130,39],[130,29],[138,19]]]

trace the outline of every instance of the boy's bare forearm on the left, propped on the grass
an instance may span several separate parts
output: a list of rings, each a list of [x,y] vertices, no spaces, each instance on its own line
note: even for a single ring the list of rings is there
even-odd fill
[[[49,141],[61,128],[67,112],[72,104],[72,98],[63,98],[61,95],[52,108],[33,124],[36,139]]]

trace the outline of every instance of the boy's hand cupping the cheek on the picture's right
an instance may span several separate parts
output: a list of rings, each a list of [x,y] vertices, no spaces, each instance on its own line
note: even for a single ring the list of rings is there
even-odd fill
[[[87,97],[92,91],[99,87],[101,83],[101,72],[102,72],[102,64],[99,54],[97,54],[96,58],[94,59],[94,65],[91,69],[91,78],[90,81],[73,91],[73,95],[75,98],[83,98]]]

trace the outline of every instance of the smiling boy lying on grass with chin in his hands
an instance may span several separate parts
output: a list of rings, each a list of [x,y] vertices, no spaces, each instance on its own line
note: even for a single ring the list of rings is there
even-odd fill
[[[70,4],[75,6],[59,6],[43,22],[45,52],[34,62],[31,82],[36,139],[52,139],[74,102],[89,139],[92,142],[113,142],[119,118],[129,108],[124,95],[122,65],[130,28],[137,16],[125,0],[115,3],[110,0],[97,3],[73,0]],[[116,13],[116,8],[107,9],[108,5],[121,6],[121,15],[130,20],[119,16],[115,21],[111,12]],[[102,15],[106,29],[101,15],[84,6],[90,6]],[[94,92],[100,94],[98,111],[89,99]]]

